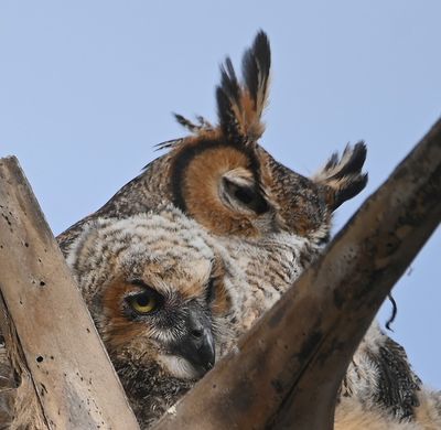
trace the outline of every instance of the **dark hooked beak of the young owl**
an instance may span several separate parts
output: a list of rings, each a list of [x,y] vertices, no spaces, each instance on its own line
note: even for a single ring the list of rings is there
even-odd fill
[[[191,309],[186,329],[187,333],[175,345],[175,352],[203,376],[214,366],[216,358],[211,320],[202,310]]]

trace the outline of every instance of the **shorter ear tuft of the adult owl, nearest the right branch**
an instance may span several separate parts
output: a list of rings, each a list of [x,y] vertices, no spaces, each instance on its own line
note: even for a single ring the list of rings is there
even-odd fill
[[[312,178],[314,182],[327,187],[327,204],[331,211],[356,196],[366,186],[367,173],[362,172],[366,152],[364,142],[354,147],[347,144],[341,158],[336,152],[333,153]]]

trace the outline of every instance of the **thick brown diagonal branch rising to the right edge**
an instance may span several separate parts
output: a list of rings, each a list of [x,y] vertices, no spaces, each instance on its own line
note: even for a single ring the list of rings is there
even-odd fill
[[[154,429],[331,429],[351,357],[440,219],[441,121]]]

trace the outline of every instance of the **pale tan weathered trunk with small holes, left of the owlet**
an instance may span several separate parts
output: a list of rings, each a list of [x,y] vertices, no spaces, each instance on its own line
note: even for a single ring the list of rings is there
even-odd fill
[[[0,160],[0,288],[4,300],[1,330],[10,332],[6,321],[13,321],[12,332],[18,336],[13,357],[22,356],[20,366],[32,376],[47,426],[138,429],[79,290],[15,158]]]

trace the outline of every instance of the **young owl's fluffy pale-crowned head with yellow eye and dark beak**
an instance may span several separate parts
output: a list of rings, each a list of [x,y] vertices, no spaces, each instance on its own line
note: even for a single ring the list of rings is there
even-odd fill
[[[99,218],[67,261],[121,366],[180,379],[197,379],[213,366],[230,305],[225,266],[182,213]]]

